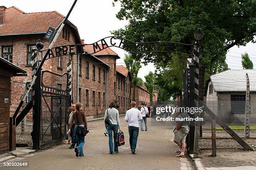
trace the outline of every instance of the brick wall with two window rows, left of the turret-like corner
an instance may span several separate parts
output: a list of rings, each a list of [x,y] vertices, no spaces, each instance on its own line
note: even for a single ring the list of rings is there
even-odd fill
[[[103,73],[107,74],[108,66],[103,62],[95,59],[90,55],[80,55],[81,72],[79,74],[79,88],[81,88],[81,102],[85,106],[86,116],[103,116],[105,114],[106,105],[103,101],[103,93],[105,93],[106,100],[106,85],[107,79],[104,83]],[[89,63],[89,77],[86,77],[86,64]],[[95,80],[93,80],[93,66],[95,66]],[[73,96],[74,103],[77,102],[77,59],[73,60]],[[99,81],[99,68],[100,68],[100,81]],[[89,92],[88,104],[86,105],[86,90]],[[95,104],[93,105],[92,93],[95,92]],[[99,93],[100,92],[100,93]],[[100,102],[99,102],[100,95]]]

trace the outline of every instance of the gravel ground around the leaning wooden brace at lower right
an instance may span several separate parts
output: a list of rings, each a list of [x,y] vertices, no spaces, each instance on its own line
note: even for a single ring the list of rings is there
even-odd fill
[[[211,137],[210,127],[203,127],[203,137]],[[233,130],[243,138],[243,130]],[[246,151],[225,130],[216,130],[217,156],[212,157],[211,139],[200,139],[200,160],[206,167],[256,166],[256,151]],[[256,130],[250,131],[250,139],[243,140],[256,150]],[[225,138],[225,139],[218,139]],[[205,150],[206,149],[206,150]]]

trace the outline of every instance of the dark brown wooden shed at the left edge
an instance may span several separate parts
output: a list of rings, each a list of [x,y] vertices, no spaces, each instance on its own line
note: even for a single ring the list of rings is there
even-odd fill
[[[26,70],[0,57],[0,155],[9,151],[11,77],[24,74]]]

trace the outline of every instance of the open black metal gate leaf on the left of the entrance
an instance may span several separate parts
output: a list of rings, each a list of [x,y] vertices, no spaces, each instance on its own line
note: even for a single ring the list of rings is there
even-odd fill
[[[65,140],[68,95],[68,73],[42,71],[40,146]]]

